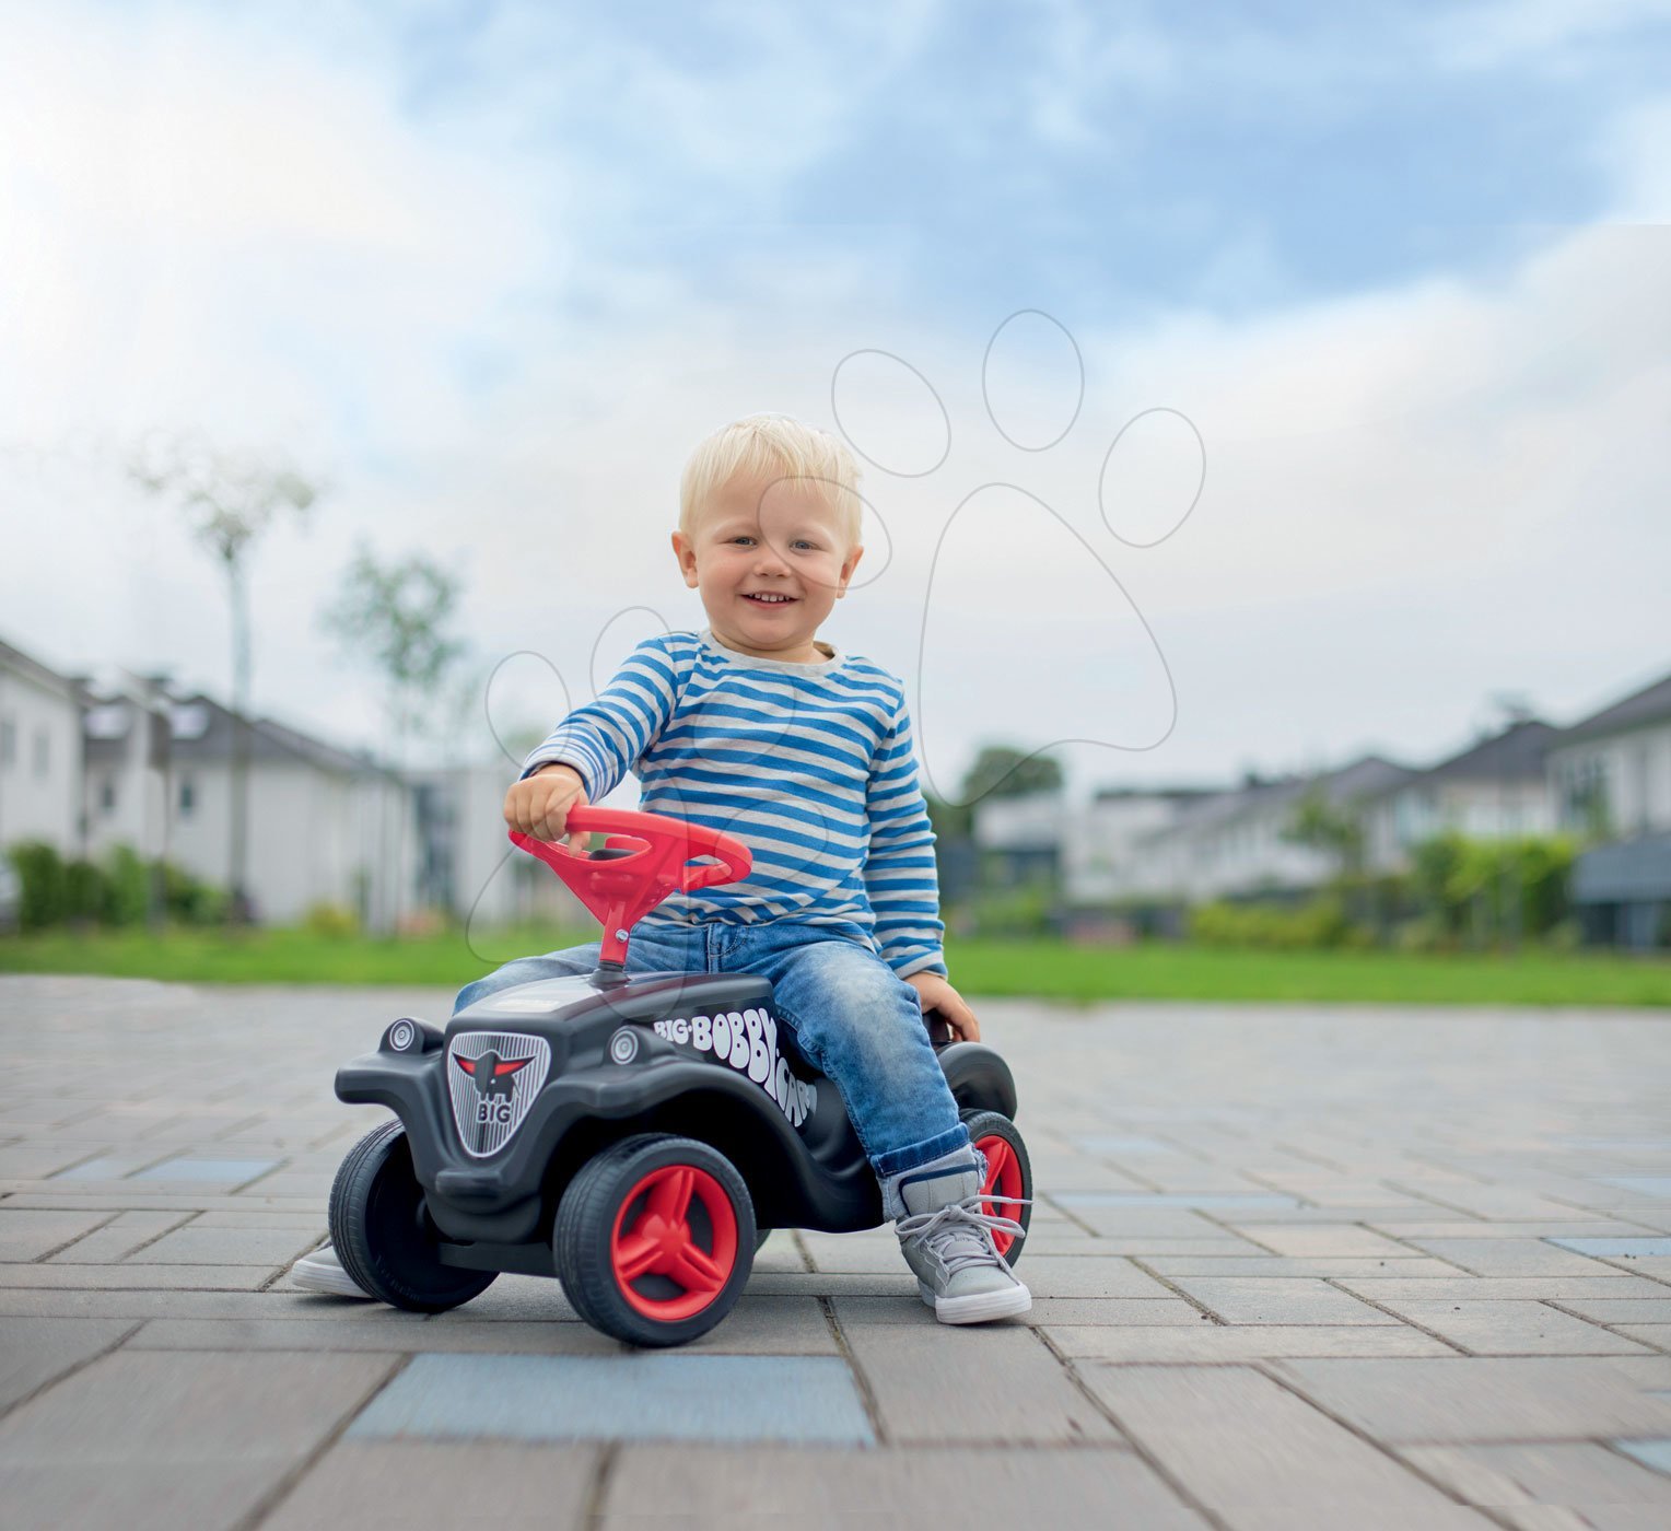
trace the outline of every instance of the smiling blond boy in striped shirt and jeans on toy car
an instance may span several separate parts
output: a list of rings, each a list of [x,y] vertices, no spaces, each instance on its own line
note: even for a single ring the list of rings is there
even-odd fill
[[[673,894],[632,931],[628,971],[745,971],[836,1083],[882,1188],[922,1300],[946,1324],[1031,1307],[993,1244],[1019,1227],[981,1212],[983,1163],[922,1015],[978,1040],[947,983],[934,831],[917,786],[904,687],[817,638],[847,593],[859,470],[825,431],[752,415],[685,466],[673,553],[709,617],[642,642],[597,702],[528,755],[505,821],[558,839],[568,809],[632,771],[640,807],[724,829],[754,867]],[[466,984],[590,973],[600,946],[518,958]],[[1011,1212],[1014,1208],[1009,1208]],[[358,1292],[329,1249],[294,1270],[307,1290]]]

